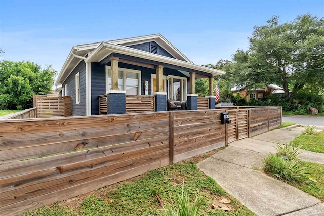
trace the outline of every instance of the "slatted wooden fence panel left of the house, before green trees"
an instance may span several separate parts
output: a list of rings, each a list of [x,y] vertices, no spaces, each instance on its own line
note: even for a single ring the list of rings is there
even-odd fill
[[[71,96],[34,95],[37,118],[67,117],[72,115]]]

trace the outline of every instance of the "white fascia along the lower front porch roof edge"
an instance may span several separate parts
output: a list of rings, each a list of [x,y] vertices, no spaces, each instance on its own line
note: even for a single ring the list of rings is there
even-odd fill
[[[87,57],[87,59],[85,59],[85,61],[86,62],[97,62],[98,59],[96,59],[96,57],[100,56],[100,54],[102,52],[119,53],[119,54],[130,55],[130,56],[134,56],[134,57],[138,57],[138,58],[142,58],[142,59],[148,59],[148,60],[152,60],[152,61],[156,61],[156,62],[163,62],[166,64],[177,65],[180,67],[209,73],[214,76],[225,74],[225,72],[221,71],[221,70],[217,70],[217,69],[213,69],[213,68],[209,68],[209,67],[205,67],[205,66],[200,66],[200,65],[195,65],[190,62],[185,62],[185,61],[181,61],[178,59],[173,59],[173,58],[169,58],[166,56],[161,56],[161,55],[133,49],[130,47],[115,45],[115,44],[111,44],[109,42],[101,42],[101,44]]]

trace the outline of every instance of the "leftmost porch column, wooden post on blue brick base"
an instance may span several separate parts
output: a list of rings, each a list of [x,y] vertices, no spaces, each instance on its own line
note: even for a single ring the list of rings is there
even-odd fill
[[[111,62],[111,89],[107,92],[107,114],[126,113],[126,91],[118,87],[119,58],[112,56]]]

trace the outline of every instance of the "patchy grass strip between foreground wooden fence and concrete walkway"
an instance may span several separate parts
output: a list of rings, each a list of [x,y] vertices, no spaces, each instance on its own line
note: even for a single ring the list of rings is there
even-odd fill
[[[208,156],[207,156],[208,157]],[[199,157],[200,160],[206,158]],[[24,215],[163,215],[164,206],[184,190],[193,200],[198,194],[204,197],[199,215],[255,215],[235,198],[227,194],[212,178],[199,171],[197,160],[187,160],[157,170],[149,171],[140,177],[126,180],[78,198],[58,202],[27,212]],[[157,196],[156,196],[157,195]],[[229,204],[221,204],[228,199]],[[213,207],[214,205],[214,207]],[[216,208],[215,208],[216,206]],[[221,210],[229,207],[231,211]]]

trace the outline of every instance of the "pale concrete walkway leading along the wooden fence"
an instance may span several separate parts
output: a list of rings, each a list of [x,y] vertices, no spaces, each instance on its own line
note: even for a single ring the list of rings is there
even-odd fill
[[[232,142],[197,166],[260,216],[324,215],[324,203],[319,199],[256,170],[262,167],[262,158],[275,152],[277,141],[290,142],[302,130],[302,127],[276,129]],[[324,164],[324,154],[304,151],[299,156],[305,161]]]

